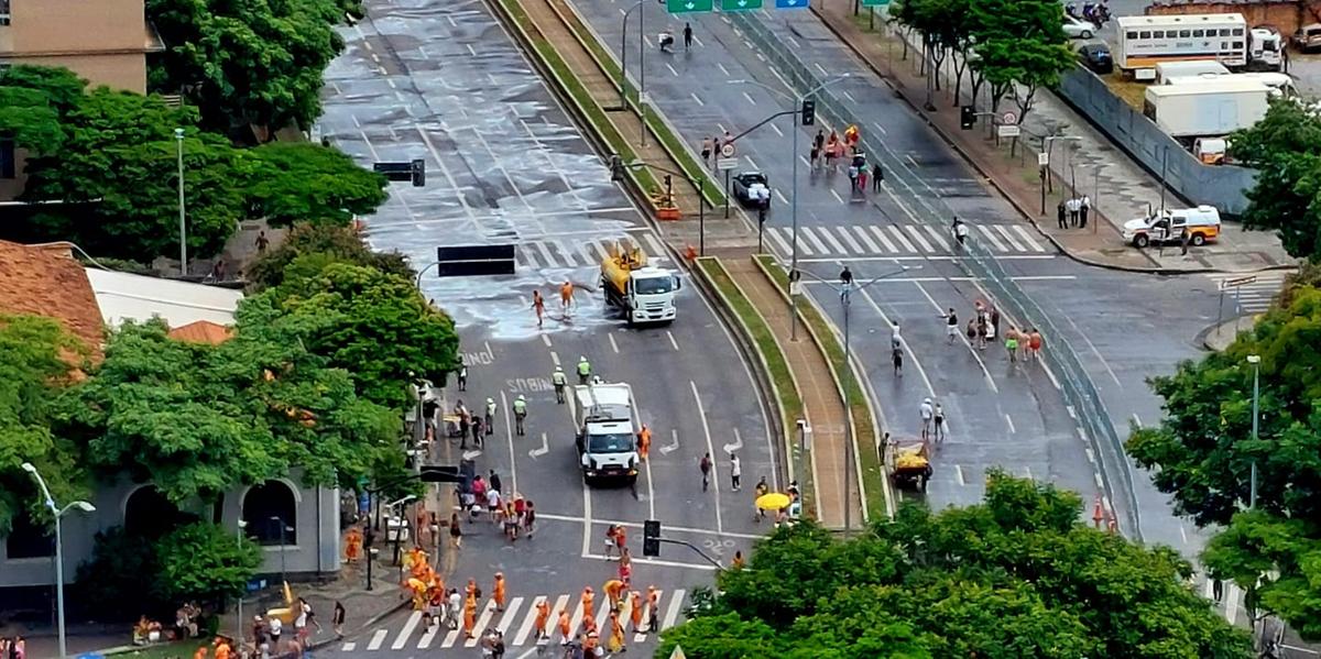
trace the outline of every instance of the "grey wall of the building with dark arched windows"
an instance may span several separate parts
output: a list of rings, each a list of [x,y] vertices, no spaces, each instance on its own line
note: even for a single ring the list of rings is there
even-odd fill
[[[288,481],[296,483],[296,481]],[[96,511],[91,514],[69,512],[63,518],[65,582],[71,584],[78,565],[91,559],[95,534],[124,523],[124,508],[128,497],[143,485],[127,481],[104,483],[91,497]],[[247,487],[227,493],[221,503],[221,523],[226,528],[238,528],[240,504]],[[296,544],[284,547],[284,564],[289,574],[333,573],[339,571],[339,490],[295,487],[297,510]],[[193,502],[185,504],[202,519],[211,519],[211,506]],[[320,512],[320,516],[318,516]],[[262,573],[280,573],[279,545],[263,547],[264,563]],[[0,538],[0,589],[13,586],[44,586],[55,582],[53,557],[9,559],[8,548]],[[144,577],[145,578],[145,577]]]

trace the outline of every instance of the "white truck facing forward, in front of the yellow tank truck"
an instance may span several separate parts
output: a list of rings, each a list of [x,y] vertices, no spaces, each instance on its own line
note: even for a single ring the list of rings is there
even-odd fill
[[[583,482],[637,482],[637,436],[641,427],[633,405],[633,388],[625,383],[579,384],[573,387],[573,401]]]

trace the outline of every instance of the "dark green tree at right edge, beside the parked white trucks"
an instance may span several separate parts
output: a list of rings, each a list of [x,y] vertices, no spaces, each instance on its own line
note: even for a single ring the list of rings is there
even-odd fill
[[[1232,135],[1230,155],[1258,170],[1244,226],[1276,231],[1291,256],[1321,259],[1321,118],[1275,100],[1266,118]]]

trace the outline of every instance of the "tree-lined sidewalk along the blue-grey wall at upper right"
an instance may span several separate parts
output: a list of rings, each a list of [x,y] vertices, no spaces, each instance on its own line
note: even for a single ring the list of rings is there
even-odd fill
[[[921,53],[909,48],[908,61],[901,59],[902,44],[893,30],[868,32],[867,13],[859,18],[851,15],[847,3],[812,5],[812,12],[848,45],[873,71],[884,77],[913,111],[970,160],[987,181],[1021,213],[1037,230],[1071,258],[1100,267],[1151,272],[1254,272],[1264,268],[1293,265],[1272,232],[1244,231],[1238,223],[1226,223],[1219,242],[1201,248],[1190,248],[1182,255],[1178,248],[1137,250],[1124,244],[1120,228],[1128,219],[1161,206],[1160,181],[1128,158],[1108,139],[1074,112],[1065,102],[1048,90],[1040,90],[1028,116],[1021,123],[1020,137],[1011,156],[1011,140],[996,144],[984,127],[963,131],[959,125],[958,103],[952,100],[954,55],[945,62],[942,90],[937,91],[937,111],[922,110],[926,102],[926,79],[918,74]],[[877,21],[880,26],[882,21]],[[985,92],[988,86],[983,86]],[[964,81],[963,96],[968,95]],[[985,94],[983,94],[985,95]],[[988,100],[979,108],[989,107]],[[1017,112],[1012,99],[1000,103],[1000,111]],[[1042,137],[1062,135],[1067,139],[1052,140],[1050,170],[1053,194],[1046,197],[1045,214],[1041,213],[1041,182],[1037,152]],[[1092,213],[1087,230],[1057,227],[1055,205],[1073,184],[1077,194],[1090,195]],[[1166,191],[1165,206],[1178,207],[1185,202]]]

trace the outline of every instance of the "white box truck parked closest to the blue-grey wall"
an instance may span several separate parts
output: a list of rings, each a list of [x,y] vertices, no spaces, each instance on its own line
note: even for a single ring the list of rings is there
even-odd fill
[[[1192,141],[1247,128],[1266,116],[1269,87],[1256,81],[1147,87],[1143,115],[1170,137]]]

